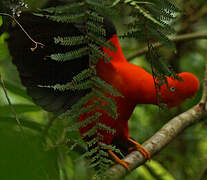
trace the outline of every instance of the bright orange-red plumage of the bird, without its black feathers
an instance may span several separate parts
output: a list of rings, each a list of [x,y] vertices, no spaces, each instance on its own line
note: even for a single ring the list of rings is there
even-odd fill
[[[110,63],[105,63],[104,60],[100,60],[96,66],[96,70],[98,76],[116,88],[123,97],[112,97],[116,101],[118,107],[119,116],[116,120],[106,112],[98,108],[95,109],[95,112],[102,113],[99,121],[116,130],[115,134],[107,133],[104,130],[98,130],[98,133],[103,136],[102,142],[105,144],[111,144],[114,138],[131,142],[128,120],[135,106],[137,104],[158,105],[158,98],[152,75],[143,68],[126,61],[117,35],[114,35],[110,41],[115,45],[116,52],[103,49],[112,59]],[[195,75],[183,72],[178,74],[178,76],[182,78],[182,81],[168,77],[168,87],[166,84],[163,85],[159,92],[161,94],[159,103],[165,103],[169,108],[179,105],[186,98],[193,97],[199,89],[199,81]],[[82,115],[80,121],[84,121],[84,119],[90,115],[91,113]],[[80,133],[83,135],[91,129],[93,125],[95,124],[91,123],[84,128],[80,128]],[[133,145],[136,146],[136,143],[133,143]],[[145,158],[149,158],[150,154],[143,150],[141,146],[135,147],[135,149],[140,150]],[[116,160],[117,159],[118,158],[116,158]],[[117,160],[117,162],[128,169],[128,165],[125,164],[125,162],[121,160]]]

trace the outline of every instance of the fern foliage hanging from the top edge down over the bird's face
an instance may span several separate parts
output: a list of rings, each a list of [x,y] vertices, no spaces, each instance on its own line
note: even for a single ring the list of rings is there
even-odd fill
[[[160,86],[167,83],[167,76],[177,79],[178,77],[166,60],[160,58],[153,47],[153,42],[164,43],[168,47],[174,48],[168,35],[175,32],[170,23],[180,10],[170,0],[124,0],[122,3],[128,4],[132,8],[130,14],[132,20],[128,23],[129,31],[121,37],[136,38],[146,42],[148,46],[147,60],[151,64],[152,75],[158,91]]]

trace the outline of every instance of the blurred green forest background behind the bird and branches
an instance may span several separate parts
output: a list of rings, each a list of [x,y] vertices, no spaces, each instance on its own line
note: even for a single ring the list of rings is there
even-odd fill
[[[46,0],[25,0],[29,8],[41,7]],[[176,35],[188,33],[207,34],[207,1],[177,0],[181,9],[172,23]],[[124,8],[124,7],[123,7]],[[1,9],[0,9],[1,12]],[[113,22],[118,33],[124,32],[127,9],[123,9]],[[2,21],[0,20],[0,24]],[[63,141],[63,127],[60,119],[33,104],[21,86],[17,70],[11,63],[11,56],[5,39],[0,36],[0,73],[6,85],[9,98],[21,122],[15,119],[0,87],[0,179],[1,180],[86,180],[92,179],[87,160],[81,157],[82,148],[70,151],[71,142]],[[125,57],[145,47],[133,39],[121,40]],[[20,42],[21,45],[21,42]],[[194,73],[202,83],[207,57],[205,39],[179,41],[176,52],[162,47],[160,53],[177,72]],[[150,71],[145,56],[135,57],[131,62]],[[186,111],[201,97],[202,87],[193,99],[179,107],[161,110],[153,105],[139,105],[130,120],[130,133],[139,142],[144,142],[172,117]],[[48,128],[49,127],[49,128]],[[189,127],[151,161],[134,170],[126,180],[205,180],[207,179],[207,123],[205,121]],[[70,136],[78,136],[73,133]]]

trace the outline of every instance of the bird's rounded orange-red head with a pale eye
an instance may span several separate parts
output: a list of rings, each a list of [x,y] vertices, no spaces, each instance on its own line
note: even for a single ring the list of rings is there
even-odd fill
[[[199,89],[198,78],[188,72],[178,74],[181,81],[177,79],[167,78],[168,86],[165,84],[161,87],[161,103],[167,105],[168,108],[178,106],[185,99],[192,98]]]

